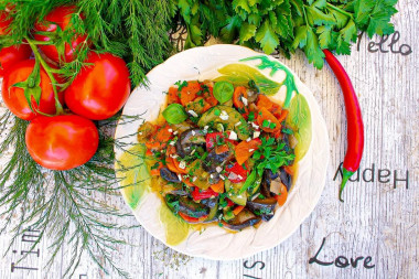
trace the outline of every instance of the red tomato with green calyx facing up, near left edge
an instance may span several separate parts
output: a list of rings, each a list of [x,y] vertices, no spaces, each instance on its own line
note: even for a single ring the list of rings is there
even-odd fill
[[[24,96],[24,89],[19,87],[13,87],[17,83],[25,82],[30,74],[33,71],[35,65],[34,60],[21,61],[11,68],[9,68],[4,74],[3,86],[1,89],[1,96],[7,107],[12,111],[17,117],[24,120],[32,120],[39,114],[33,112],[28,104],[28,100]],[[55,99],[54,90],[51,85],[51,79],[47,76],[46,72],[42,68],[40,71],[41,75],[41,99],[40,105],[37,106],[35,99],[32,97],[32,107],[34,110],[40,110],[44,114],[54,115],[55,110]],[[63,104],[63,94],[58,94],[60,100]]]

